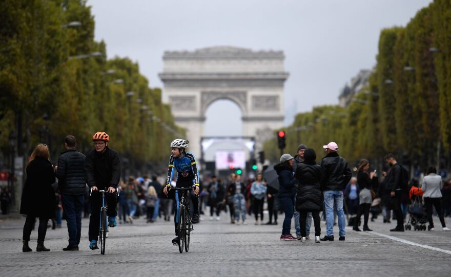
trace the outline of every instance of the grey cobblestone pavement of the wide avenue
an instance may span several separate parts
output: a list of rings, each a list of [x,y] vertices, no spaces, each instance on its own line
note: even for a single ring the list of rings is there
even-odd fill
[[[280,216],[283,219],[283,216]],[[372,222],[374,232],[347,229],[346,241],[307,243],[280,241],[279,225],[232,225],[222,214],[220,221],[203,217],[195,225],[190,251],[180,254],[171,244],[173,222],[122,224],[110,229],[106,255],[88,248],[88,221],[83,220],[79,251],[62,251],[67,229],[48,229],[45,245],[50,252],[36,252],[37,229],[33,230],[33,252],[22,252],[23,220],[0,221],[0,276],[450,276],[451,232],[436,230],[391,233],[394,223]],[[446,219],[451,226],[450,218]],[[294,234],[294,228],[292,228]],[[325,234],[322,223],[322,236]],[[425,249],[390,238],[404,239],[440,248]]]

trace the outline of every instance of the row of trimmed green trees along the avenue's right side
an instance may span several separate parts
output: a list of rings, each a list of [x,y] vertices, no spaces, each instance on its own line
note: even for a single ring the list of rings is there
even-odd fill
[[[286,127],[288,152],[300,142],[322,150],[335,141],[344,157],[449,167],[451,150],[451,1],[435,0],[406,27],[381,31],[369,84],[346,108],[315,107]],[[275,140],[264,146],[271,159]],[[321,152],[322,153],[322,152]],[[437,154],[439,153],[439,154]]]

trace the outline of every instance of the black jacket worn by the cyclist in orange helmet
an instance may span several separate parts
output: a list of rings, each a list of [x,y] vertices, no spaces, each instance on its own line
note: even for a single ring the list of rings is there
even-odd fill
[[[119,155],[108,146],[103,153],[97,153],[93,149],[86,154],[85,172],[90,188],[117,188],[120,178]]]

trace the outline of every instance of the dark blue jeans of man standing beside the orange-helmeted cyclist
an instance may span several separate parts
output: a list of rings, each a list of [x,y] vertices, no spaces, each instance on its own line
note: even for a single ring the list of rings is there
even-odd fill
[[[78,246],[81,236],[81,214],[85,204],[85,195],[61,194],[61,203],[66,214],[69,245]]]

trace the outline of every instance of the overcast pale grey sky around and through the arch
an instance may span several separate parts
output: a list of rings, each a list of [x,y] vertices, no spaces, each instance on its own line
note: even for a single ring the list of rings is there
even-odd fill
[[[283,50],[287,124],[297,112],[337,104],[339,90],[376,63],[381,29],[405,26],[430,0],[90,0],[95,39],[108,57],[137,61],[150,86],[162,87],[166,50],[232,45]],[[214,111],[214,112],[213,112]],[[223,114],[230,114],[229,126]],[[222,117],[222,120],[221,120]],[[241,134],[241,112],[226,100],[207,111],[204,135]]]

